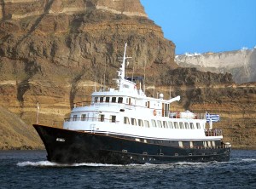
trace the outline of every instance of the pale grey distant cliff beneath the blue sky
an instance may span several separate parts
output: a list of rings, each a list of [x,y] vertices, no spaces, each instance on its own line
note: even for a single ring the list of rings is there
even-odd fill
[[[222,53],[177,55],[179,66],[196,67],[202,72],[230,72],[236,83],[256,82],[256,49]]]

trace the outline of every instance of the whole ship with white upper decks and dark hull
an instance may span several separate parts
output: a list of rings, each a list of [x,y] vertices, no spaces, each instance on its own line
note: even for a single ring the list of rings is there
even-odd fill
[[[227,162],[231,145],[209,113],[173,112],[164,94],[147,96],[142,77],[125,77],[127,44],[116,86],[75,103],[63,127],[33,124],[53,163]],[[207,116],[210,115],[210,116]]]

